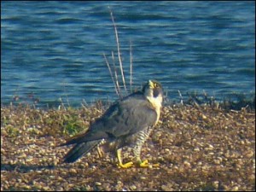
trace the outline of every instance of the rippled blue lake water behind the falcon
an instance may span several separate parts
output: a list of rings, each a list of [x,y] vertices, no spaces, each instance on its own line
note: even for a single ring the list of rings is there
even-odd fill
[[[117,99],[103,57],[119,64],[110,9],[127,85],[131,45],[134,88],[157,79],[170,101],[255,94],[254,2],[3,1],[1,103]]]

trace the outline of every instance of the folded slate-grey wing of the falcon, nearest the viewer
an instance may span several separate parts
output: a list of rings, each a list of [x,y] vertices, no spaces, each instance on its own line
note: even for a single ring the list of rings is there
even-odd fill
[[[142,96],[128,97],[108,108],[102,118],[90,125],[85,134],[74,137],[65,144],[129,136],[154,125],[156,119],[156,112],[148,107],[148,101]]]

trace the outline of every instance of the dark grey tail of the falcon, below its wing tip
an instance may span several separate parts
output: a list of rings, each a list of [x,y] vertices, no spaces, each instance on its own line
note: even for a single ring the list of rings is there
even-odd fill
[[[87,143],[76,144],[71,148],[68,153],[64,156],[64,163],[72,163],[79,159],[83,154],[87,154],[92,148],[95,148],[101,140],[91,141]]]

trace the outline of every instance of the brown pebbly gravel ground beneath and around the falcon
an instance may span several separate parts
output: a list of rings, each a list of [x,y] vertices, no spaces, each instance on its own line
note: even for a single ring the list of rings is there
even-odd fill
[[[164,107],[142,151],[159,167],[121,169],[96,151],[62,164],[70,147],[57,145],[105,109],[2,107],[1,190],[255,190],[254,110]]]

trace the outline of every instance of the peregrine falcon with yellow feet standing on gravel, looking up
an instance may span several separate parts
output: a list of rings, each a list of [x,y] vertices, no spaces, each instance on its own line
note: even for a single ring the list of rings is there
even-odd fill
[[[72,137],[60,146],[74,144],[64,156],[63,162],[78,160],[92,148],[102,147],[103,151],[116,153],[119,166],[148,167],[148,160],[141,160],[141,149],[154,125],[160,119],[163,102],[163,88],[158,81],[148,80],[142,91],[132,93],[113,103],[101,118],[90,125],[84,134]],[[121,148],[130,146],[135,160],[123,164]]]

